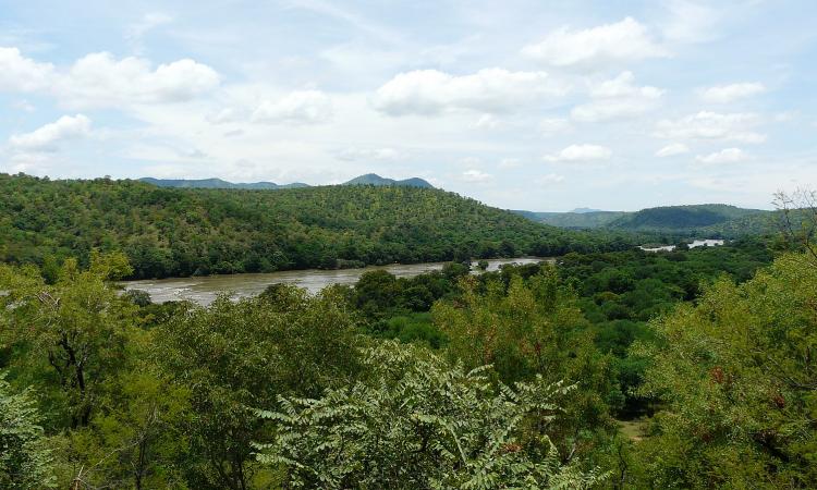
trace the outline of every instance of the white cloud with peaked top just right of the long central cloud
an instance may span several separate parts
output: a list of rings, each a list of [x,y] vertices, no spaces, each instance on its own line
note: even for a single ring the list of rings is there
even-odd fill
[[[639,115],[655,109],[663,95],[660,88],[635,85],[632,72],[593,85],[589,91],[594,100],[571,111],[571,118],[576,121],[598,122]]]

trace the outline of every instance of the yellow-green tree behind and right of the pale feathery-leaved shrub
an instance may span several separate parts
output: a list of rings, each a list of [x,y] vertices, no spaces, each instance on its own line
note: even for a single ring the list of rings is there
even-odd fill
[[[603,438],[622,395],[610,357],[596,350],[575,296],[557,270],[545,265],[527,280],[511,277],[507,290],[497,280],[486,281],[483,292],[474,278],[461,284],[461,297],[431,310],[448,338],[449,355],[466,368],[492,364],[504,383],[537,376],[576,383],[553,437],[563,451],[586,455],[597,437]]]

